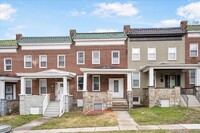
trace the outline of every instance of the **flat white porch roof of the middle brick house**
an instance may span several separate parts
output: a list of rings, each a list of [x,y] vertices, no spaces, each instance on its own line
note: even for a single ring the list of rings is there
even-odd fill
[[[104,68],[80,68],[82,72],[87,74],[127,74],[132,73],[135,69],[104,69]]]

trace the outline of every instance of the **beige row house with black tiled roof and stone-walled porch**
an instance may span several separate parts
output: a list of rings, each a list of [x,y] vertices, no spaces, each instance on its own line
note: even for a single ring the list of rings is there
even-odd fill
[[[180,105],[185,71],[200,68],[200,64],[185,64],[186,31],[180,27],[127,29],[128,68],[136,69],[133,104]]]

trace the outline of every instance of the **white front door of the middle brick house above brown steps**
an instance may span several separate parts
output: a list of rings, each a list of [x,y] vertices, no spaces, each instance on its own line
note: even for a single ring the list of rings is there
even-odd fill
[[[113,92],[113,98],[124,97],[124,80],[123,78],[110,78],[109,90]]]

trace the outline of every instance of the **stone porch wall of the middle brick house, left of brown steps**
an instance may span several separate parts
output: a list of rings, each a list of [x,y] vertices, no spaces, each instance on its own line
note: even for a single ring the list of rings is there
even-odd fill
[[[83,110],[94,110],[94,103],[102,103],[102,109],[112,107],[112,91],[83,92]]]

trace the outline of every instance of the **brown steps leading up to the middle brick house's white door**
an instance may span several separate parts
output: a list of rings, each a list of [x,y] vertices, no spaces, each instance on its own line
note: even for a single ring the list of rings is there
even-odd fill
[[[127,111],[128,110],[128,102],[126,101],[126,99],[123,99],[123,98],[113,99],[112,110]]]

